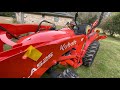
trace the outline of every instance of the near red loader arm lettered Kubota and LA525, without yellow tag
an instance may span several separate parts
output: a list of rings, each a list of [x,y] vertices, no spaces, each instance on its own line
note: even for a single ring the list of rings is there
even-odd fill
[[[54,41],[46,46],[37,45],[36,47],[42,56],[38,61],[30,58],[22,59],[25,54],[24,47],[17,48],[8,52],[0,53],[0,77],[1,78],[39,78],[52,65],[56,64],[57,59],[68,50],[81,43],[85,36],[75,36],[71,39]],[[84,42],[82,42],[84,43]],[[14,52],[14,53],[13,53]],[[11,56],[11,53],[14,54]],[[7,56],[9,55],[9,56]]]

